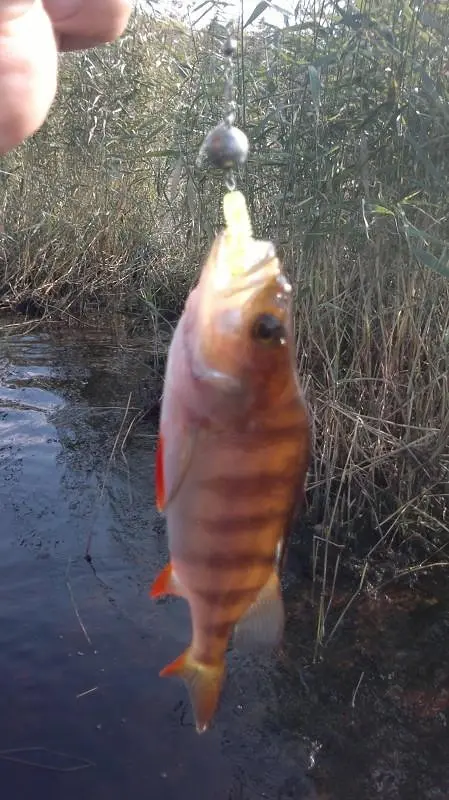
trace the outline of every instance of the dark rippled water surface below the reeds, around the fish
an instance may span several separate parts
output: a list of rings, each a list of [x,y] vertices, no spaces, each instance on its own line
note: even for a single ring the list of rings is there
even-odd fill
[[[154,421],[120,446],[150,362],[98,330],[0,343],[3,795],[447,798],[444,575],[361,599],[312,665],[310,585],[290,574],[281,655],[231,653],[197,736],[184,688],[158,678],[189,621],[182,601],[148,597],[167,557]]]

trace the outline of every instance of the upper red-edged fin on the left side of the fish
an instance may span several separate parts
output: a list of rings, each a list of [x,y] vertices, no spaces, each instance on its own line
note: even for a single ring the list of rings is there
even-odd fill
[[[168,448],[165,437],[159,433],[156,450],[156,507],[159,512],[167,510],[181,487],[192,460],[196,434],[196,428],[183,430],[176,448]]]

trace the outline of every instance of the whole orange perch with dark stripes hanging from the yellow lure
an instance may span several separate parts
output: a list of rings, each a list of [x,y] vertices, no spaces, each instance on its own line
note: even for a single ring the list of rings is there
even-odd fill
[[[155,467],[170,556],[150,595],[183,598],[192,622],[190,645],[159,674],[184,681],[198,733],[216,715],[230,642],[282,640],[282,569],[311,448],[291,284],[240,191],[223,212],[170,342]]]

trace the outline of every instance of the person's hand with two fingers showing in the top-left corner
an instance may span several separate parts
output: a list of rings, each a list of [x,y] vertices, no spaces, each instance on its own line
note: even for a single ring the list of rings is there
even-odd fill
[[[119,36],[131,0],[0,0],[0,155],[44,122],[57,86],[57,54]]]

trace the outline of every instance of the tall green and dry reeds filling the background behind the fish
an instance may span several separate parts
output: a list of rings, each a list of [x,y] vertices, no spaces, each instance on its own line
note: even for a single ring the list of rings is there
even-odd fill
[[[447,564],[449,6],[306,0],[276,27],[267,5],[239,29],[239,185],[295,287],[322,639],[356,542],[361,585],[392,552],[394,575]],[[221,224],[221,176],[195,160],[225,35],[219,9],[198,27],[140,8],[61,57],[47,123],[1,163],[4,307],[179,313]]]

